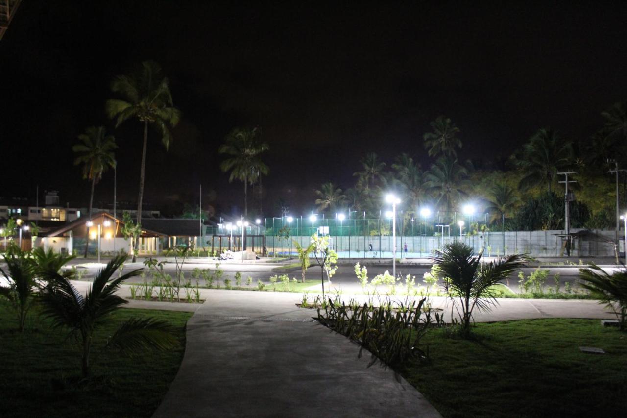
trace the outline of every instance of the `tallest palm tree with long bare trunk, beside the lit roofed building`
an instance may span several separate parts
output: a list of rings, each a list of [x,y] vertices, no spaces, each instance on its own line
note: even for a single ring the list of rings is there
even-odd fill
[[[137,118],[144,124],[144,145],[137,196],[137,224],[141,225],[148,126],[161,134],[161,142],[167,150],[172,142],[170,129],[179,123],[181,112],[172,105],[168,80],[164,77],[159,64],[154,61],[142,62],[139,70],[130,75],[115,77],[111,83],[111,90],[124,98],[110,99],[105,104],[108,117],[115,119],[115,127],[132,118]],[[139,240],[135,242],[135,251],[137,249]],[[133,259],[135,260],[135,257]]]

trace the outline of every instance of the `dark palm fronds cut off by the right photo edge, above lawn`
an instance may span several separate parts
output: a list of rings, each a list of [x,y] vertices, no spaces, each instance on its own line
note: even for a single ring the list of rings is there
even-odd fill
[[[599,303],[605,304],[619,321],[621,330],[627,330],[627,269],[612,274],[597,265],[579,269],[579,277],[586,281],[581,287],[598,297]]]

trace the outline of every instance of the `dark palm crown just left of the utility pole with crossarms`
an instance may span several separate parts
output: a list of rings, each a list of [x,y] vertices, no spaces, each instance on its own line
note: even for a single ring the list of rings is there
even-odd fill
[[[519,189],[527,190],[532,186],[545,183],[551,191],[551,185],[560,169],[571,163],[572,144],[564,142],[551,128],[540,129],[524,145],[522,158],[517,161],[524,176],[520,179]]]

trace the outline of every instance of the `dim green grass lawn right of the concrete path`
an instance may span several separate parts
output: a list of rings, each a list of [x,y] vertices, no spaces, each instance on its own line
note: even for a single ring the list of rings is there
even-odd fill
[[[474,331],[472,341],[429,331],[421,344],[431,361],[399,369],[445,417],[625,416],[627,333],[598,319],[483,323]]]

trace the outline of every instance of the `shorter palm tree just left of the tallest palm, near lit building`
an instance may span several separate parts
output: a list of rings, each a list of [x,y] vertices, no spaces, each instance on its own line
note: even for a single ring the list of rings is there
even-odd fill
[[[74,165],[83,164],[83,178],[92,182],[92,191],[89,195],[89,218],[92,218],[93,189],[102,179],[102,173],[108,168],[115,167],[113,150],[117,148],[115,138],[107,135],[104,126],[90,126],[84,134],[78,136],[78,144],[72,147],[78,156]],[[86,235],[87,236],[87,235]],[[85,240],[85,257],[89,248],[89,238]]]

